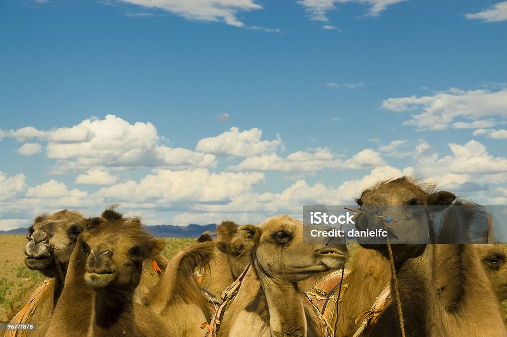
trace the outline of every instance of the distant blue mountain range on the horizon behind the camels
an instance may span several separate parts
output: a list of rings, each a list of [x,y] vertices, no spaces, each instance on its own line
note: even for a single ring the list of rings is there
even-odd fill
[[[146,226],[148,231],[158,238],[198,238],[203,232],[214,232],[216,224],[210,223],[205,225],[191,223],[188,226],[173,226],[172,224],[160,224],[158,226]],[[28,233],[27,228],[17,228],[10,231],[0,231],[2,234],[25,235]]]

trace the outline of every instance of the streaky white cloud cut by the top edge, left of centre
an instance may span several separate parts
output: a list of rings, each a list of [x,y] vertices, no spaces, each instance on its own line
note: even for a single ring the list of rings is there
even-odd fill
[[[121,0],[124,3],[161,9],[197,21],[223,21],[243,27],[236,14],[241,11],[262,9],[254,0]]]

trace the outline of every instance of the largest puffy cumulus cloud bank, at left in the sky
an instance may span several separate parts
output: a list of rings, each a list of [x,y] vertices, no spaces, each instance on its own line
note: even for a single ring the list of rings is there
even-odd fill
[[[57,160],[53,174],[86,172],[97,166],[186,169],[216,165],[216,158],[211,154],[159,145],[157,129],[149,122],[130,124],[114,115],[107,115],[103,120],[87,119],[70,128],[41,131],[25,127],[11,130],[7,135],[18,141],[30,138],[47,141],[47,157]],[[20,153],[27,155],[37,147],[25,144]]]

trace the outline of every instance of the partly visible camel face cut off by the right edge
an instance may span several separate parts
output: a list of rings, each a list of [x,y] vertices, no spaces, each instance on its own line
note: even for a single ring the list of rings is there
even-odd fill
[[[507,246],[502,244],[477,244],[474,247],[496,297],[499,301],[505,301],[507,299]]]

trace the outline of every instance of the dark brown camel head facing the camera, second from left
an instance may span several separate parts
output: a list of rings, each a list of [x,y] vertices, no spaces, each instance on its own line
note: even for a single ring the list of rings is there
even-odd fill
[[[123,218],[114,209],[107,212],[102,214],[104,223],[80,237],[87,255],[84,278],[95,290],[133,291],[141,278],[143,260],[159,254],[164,241],[153,238],[139,218]]]

